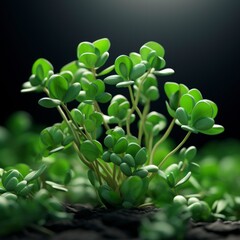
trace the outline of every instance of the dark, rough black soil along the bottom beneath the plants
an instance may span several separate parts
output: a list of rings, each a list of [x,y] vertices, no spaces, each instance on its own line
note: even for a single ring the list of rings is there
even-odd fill
[[[42,230],[25,229],[2,240],[141,240],[141,220],[159,209],[102,209],[89,206],[67,206],[74,217],[72,221],[47,223]],[[50,235],[51,234],[51,235]],[[239,240],[240,221],[193,222],[190,221],[185,240]]]

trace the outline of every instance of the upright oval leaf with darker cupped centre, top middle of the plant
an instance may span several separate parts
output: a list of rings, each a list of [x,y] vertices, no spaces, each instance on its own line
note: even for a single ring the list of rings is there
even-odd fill
[[[129,79],[130,73],[133,68],[132,60],[126,55],[120,55],[115,60],[115,71],[124,79]]]

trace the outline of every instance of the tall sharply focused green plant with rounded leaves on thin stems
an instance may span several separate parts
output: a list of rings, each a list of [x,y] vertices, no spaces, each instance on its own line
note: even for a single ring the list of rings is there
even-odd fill
[[[186,163],[192,160],[196,148],[181,150],[189,136],[220,134],[224,128],[215,124],[218,108],[213,101],[203,98],[198,89],[175,82],[163,86],[172,117],[167,124],[167,117],[151,108],[160,98],[158,78],[174,73],[165,68],[164,48],[149,41],[139,52],[120,55],[114,65],[105,68],[110,45],[107,38],[81,42],[76,60],[59,72],[54,72],[48,60],[37,59],[22,92],[46,94],[39,105],[56,108],[63,119],[41,131],[43,157],[74,149],[88,171],[99,203],[131,208],[148,203],[148,188],[157,176],[176,192],[191,177],[194,167]],[[108,87],[122,93],[112,95]],[[159,148],[174,125],[186,131],[186,136],[161,158]],[[183,161],[164,168],[179,150]]]

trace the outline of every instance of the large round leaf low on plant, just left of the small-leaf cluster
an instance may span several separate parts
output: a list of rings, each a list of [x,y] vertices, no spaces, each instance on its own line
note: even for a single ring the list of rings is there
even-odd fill
[[[93,162],[97,160],[100,155],[100,151],[96,144],[94,144],[90,140],[84,141],[80,146],[80,152],[84,155],[84,157],[89,161]]]

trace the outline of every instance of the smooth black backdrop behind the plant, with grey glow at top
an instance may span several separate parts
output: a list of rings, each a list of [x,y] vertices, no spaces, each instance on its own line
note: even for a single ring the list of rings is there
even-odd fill
[[[5,0],[0,18],[0,125],[16,110],[28,111],[36,123],[58,121],[56,111],[37,104],[37,94],[20,93],[33,62],[44,57],[57,72],[76,59],[78,43],[107,37],[108,65],[157,41],[165,48],[167,67],[175,70],[160,86],[167,80],[184,83],[217,103],[216,123],[225,132],[198,134],[193,143],[239,138],[239,0]],[[164,99],[154,107],[165,114]]]

